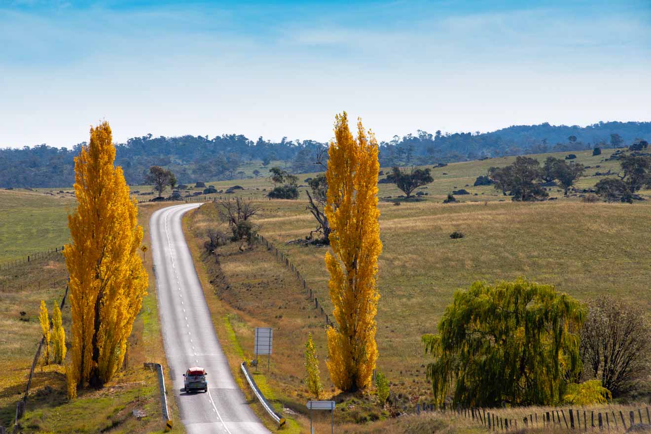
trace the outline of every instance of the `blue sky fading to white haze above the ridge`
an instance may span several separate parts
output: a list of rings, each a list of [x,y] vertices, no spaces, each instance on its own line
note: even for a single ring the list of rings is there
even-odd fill
[[[651,120],[651,0],[0,0],[0,146]]]

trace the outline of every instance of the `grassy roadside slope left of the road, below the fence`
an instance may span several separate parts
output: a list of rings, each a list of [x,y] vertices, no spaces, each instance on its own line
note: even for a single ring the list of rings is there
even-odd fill
[[[42,195],[40,197],[42,198]],[[38,201],[35,204],[37,205]],[[166,205],[148,204],[140,207],[139,221],[145,231],[152,211]],[[143,242],[148,245],[147,234]],[[37,246],[36,250],[44,247]],[[163,431],[158,377],[155,372],[143,370],[144,361],[163,364],[165,362],[150,252],[147,252],[145,265],[150,273],[150,288],[143,300],[143,309],[133,325],[126,370],[120,372],[105,388],[83,390],[77,400],[68,402],[63,367],[39,366],[32,381],[27,412],[20,420],[21,432]],[[29,368],[40,341],[40,300],[46,300],[48,308],[51,308],[53,301],[60,301],[66,278],[66,268],[60,253],[51,254],[46,260],[36,260],[0,273],[0,309],[8,312],[0,321],[3,347],[0,354],[0,424],[3,426],[13,424],[16,402],[22,398],[25,391]],[[52,282],[57,284],[53,287]],[[21,311],[24,311],[25,315],[21,315]],[[62,314],[69,347],[68,303],[64,306]],[[5,349],[7,351],[4,351]],[[168,396],[168,399],[171,400],[171,411],[175,414],[173,396]],[[146,416],[141,420],[133,416],[132,411],[136,409],[143,411]],[[182,424],[177,423],[174,432],[184,432]]]

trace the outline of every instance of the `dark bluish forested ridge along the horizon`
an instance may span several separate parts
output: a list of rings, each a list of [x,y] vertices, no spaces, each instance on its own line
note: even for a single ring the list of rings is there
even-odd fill
[[[628,146],[651,137],[651,122],[598,122],[586,127],[540,125],[510,126],[490,133],[417,133],[380,142],[380,164],[422,165],[482,157],[538,154]],[[0,149],[0,187],[65,187],[74,183],[73,158],[81,143],[68,148],[46,144]],[[158,165],[173,170],[182,183],[242,178],[242,166],[251,160],[268,165],[288,161],[293,172],[313,172],[314,160],[325,142],[271,142],[243,135],[133,137],[116,145],[115,163],[128,183],[143,183],[146,170]]]

